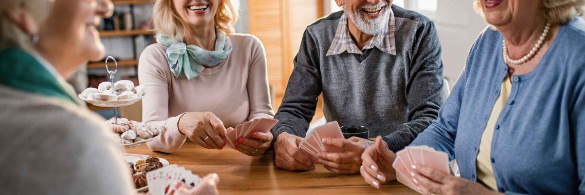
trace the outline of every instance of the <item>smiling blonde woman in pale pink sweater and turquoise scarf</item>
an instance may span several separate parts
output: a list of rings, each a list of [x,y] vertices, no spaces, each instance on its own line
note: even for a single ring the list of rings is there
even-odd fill
[[[226,127],[272,118],[266,57],[260,40],[234,33],[238,5],[233,0],[157,0],[156,44],[140,55],[143,122],[168,131],[147,143],[175,152],[187,138],[207,149],[223,149]],[[252,132],[235,149],[258,156],[272,135]]]

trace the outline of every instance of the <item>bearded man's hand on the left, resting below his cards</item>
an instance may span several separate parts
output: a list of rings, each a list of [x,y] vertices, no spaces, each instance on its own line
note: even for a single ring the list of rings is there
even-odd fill
[[[277,167],[286,170],[314,170],[315,166],[309,158],[301,153],[298,144],[302,138],[283,132],[276,137],[274,142],[274,160]]]

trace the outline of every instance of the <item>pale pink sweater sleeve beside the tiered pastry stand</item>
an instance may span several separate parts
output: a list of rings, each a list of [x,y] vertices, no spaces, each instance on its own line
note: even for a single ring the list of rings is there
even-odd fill
[[[153,151],[172,153],[180,149],[187,140],[187,136],[178,130],[178,121],[185,113],[168,115],[168,92],[172,74],[168,70],[165,51],[156,46],[160,45],[150,45],[140,54],[138,80],[141,85],[146,86],[148,93],[142,99],[142,121],[167,127],[164,134],[146,145]]]

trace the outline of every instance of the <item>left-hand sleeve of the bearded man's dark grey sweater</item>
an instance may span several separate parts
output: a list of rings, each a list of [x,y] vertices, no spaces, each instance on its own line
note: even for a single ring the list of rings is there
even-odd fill
[[[272,129],[273,142],[282,132],[304,137],[309,128],[309,122],[315,115],[317,97],[322,90],[318,48],[311,34],[305,30],[283,102],[274,117],[279,122]]]

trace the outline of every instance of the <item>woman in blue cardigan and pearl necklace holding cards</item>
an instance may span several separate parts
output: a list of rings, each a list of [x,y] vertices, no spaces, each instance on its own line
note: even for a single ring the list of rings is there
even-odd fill
[[[425,194],[585,194],[584,4],[477,0],[491,28],[411,144],[456,158],[462,178],[422,165],[405,177]],[[396,155],[377,142],[362,155],[374,187],[397,174]]]

